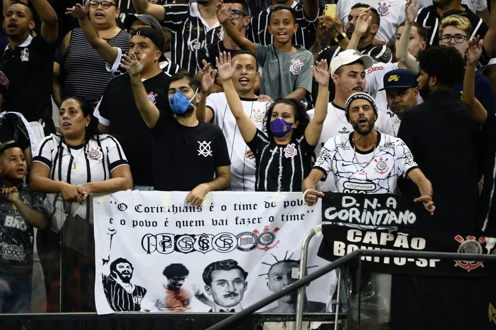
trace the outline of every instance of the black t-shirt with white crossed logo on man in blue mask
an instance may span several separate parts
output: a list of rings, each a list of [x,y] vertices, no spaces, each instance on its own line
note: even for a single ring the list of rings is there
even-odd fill
[[[153,128],[154,189],[190,191],[214,179],[218,166],[229,166],[222,130],[202,121],[194,127],[161,113]]]

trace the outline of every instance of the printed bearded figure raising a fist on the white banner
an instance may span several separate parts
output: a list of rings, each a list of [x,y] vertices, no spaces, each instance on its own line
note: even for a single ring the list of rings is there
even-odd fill
[[[114,228],[109,228],[107,233],[110,236],[110,244],[108,258],[103,259],[103,291],[110,308],[114,312],[139,312],[141,301],[146,294],[146,289],[131,283],[134,271],[132,264],[127,259],[117,258],[110,264],[109,268],[106,267],[106,265],[109,265],[110,246],[112,245],[112,237],[115,233],[116,229]],[[108,272],[105,270],[108,270]]]

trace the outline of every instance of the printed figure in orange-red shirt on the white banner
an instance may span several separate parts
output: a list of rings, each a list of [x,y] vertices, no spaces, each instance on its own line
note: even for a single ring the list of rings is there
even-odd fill
[[[162,284],[162,293],[158,298],[147,299],[141,309],[142,312],[190,312],[193,295],[205,305],[212,306],[212,302],[201,289],[195,285],[192,285],[191,289],[184,287],[185,280],[189,275],[185,265],[170,264],[164,269],[162,275],[167,279],[167,283]]]

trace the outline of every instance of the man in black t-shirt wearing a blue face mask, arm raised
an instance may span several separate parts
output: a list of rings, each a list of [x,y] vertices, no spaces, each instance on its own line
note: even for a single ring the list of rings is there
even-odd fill
[[[199,79],[186,71],[170,78],[171,116],[147,98],[141,83],[143,57],[131,52],[124,55],[123,63],[139,112],[153,132],[155,189],[190,191],[186,201],[200,205],[208,192],[229,188],[231,162],[222,130],[196,119],[196,105],[202,98]]]

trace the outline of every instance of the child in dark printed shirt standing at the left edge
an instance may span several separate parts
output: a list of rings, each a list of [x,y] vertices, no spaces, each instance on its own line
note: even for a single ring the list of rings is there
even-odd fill
[[[0,280],[8,283],[0,295],[0,312],[28,313],[33,274],[33,227],[46,228],[44,195],[28,193],[22,183],[27,164],[15,141],[0,145]]]

